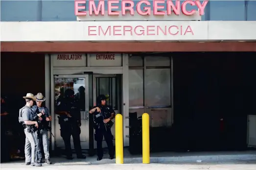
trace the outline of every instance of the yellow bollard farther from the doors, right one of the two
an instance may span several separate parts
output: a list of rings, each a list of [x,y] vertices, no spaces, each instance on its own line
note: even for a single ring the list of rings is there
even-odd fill
[[[149,115],[142,114],[142,163],[149,164]]]

